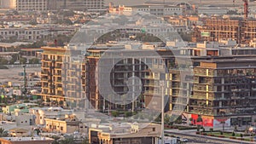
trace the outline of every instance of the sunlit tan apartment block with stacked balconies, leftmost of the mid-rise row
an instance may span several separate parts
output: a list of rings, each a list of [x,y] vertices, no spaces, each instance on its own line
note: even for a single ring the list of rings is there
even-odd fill
[[[77,57],[82,55],[81,50],[67,47],[42,49],[44,52],[41,67],[41,95],[44,101],[50,106],[85,107],[86,96],[82,87],[83,58]]]

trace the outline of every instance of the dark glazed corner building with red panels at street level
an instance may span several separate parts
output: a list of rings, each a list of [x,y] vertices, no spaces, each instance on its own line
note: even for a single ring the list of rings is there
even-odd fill
[[[203,116],[203,124],[218,127],[252,124],[255,112],[255,60],[204,60],[194,68],[189,112],[195,119]],[[196,120],[196,119],[195,119]],[[197,123],[194,121],[193,123]]]

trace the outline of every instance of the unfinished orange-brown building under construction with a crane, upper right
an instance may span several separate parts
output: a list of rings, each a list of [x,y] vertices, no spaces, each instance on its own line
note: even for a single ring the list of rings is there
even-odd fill
[[[223,18],[214,16],[203,20],[203,26],[195,26],[193,42],[236,40],[236,43],[247,44],[256,36],[256,20],[248,18],[249,4],[243,0],[243,18]]]

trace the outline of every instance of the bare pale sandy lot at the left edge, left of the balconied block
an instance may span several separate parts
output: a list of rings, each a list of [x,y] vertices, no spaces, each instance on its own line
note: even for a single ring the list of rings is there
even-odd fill
[[[23,76],[19,76],[19,73],[23,72],[22,67],[10,68],[7,70],[0,69],[0,83],[13,82],[13,83],[23,83]],[[26,73],[41,72],[41,67],[27,67]]]

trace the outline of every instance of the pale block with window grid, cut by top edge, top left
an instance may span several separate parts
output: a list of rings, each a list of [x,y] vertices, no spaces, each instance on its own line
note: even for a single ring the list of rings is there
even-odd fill
[[[17,11],[45,11],[48,0],[15,0]]]

